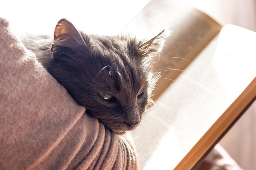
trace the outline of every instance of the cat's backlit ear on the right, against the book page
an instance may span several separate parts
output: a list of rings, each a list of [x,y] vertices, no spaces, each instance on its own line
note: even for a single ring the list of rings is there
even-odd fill
[[[140,46],[140,49],[143,53],[152,52],[152,51],[161,51],[162,47],[165,42],[165,38],[168,35],[166,34],[165,30],[161,31],[158,35],[156,35],[151,40],[143,43]]]

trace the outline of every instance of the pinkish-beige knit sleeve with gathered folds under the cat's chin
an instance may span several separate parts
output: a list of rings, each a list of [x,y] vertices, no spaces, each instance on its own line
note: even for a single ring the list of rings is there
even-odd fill
[[[0,169],[136,169],[127,139],[84,111],[0,18]]]

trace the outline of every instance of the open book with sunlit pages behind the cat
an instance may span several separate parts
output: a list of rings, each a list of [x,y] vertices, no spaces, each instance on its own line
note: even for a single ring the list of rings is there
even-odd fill
[[[191,169],[256,99],[255,32],[172,0],[151,0],[123,31],[166,27],[155,107],[133,132],[140,170]]]

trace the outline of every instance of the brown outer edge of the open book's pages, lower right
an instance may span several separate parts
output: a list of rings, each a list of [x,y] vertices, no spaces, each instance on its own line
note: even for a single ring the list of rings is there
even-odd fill
[[[174,170],[190,170],[196,163],[202,160],[255,100],[256,78],[210,127],[204,136],[201,137]]]

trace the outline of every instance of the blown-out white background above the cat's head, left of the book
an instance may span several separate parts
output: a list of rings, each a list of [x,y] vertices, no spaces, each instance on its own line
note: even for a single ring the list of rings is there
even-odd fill
[[[117,34],[149,0],[4,0],[0,17],[15,32],[53,34],[61,18],[87,34]]]

